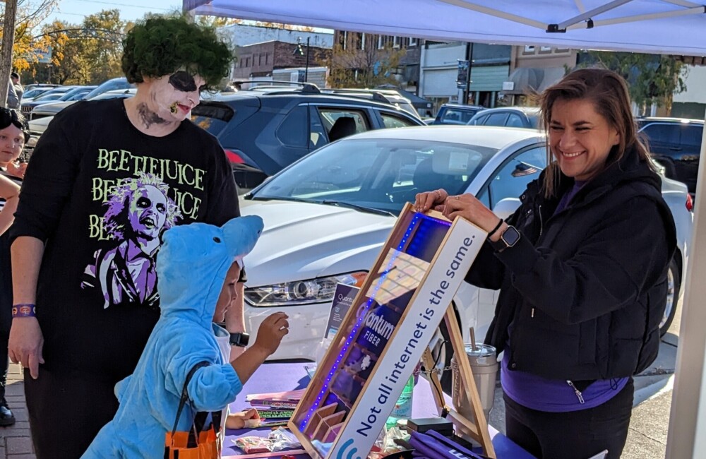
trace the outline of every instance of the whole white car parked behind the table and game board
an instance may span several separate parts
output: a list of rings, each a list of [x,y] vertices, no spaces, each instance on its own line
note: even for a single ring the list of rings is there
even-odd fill
[[[336,283],[354,284],[355,275],[373,266],[396,215],[416,193],[473,193],[506,217],[545,164],[541,133],[484,126],[380,129],[307,155],[241,200],[244,215],[265,222],[245,259],[248,330],[255,333],[263,318],[285,311],[289,335],[271,358],[316,360]],[[692,214],[685,185],[663,179],[662,189],[677,222],[679,249],[670,270],[668,327],[681,294]],[[480,340],[485,336],[497,297],[462,283],[453,304],[466,342],[471,326]],[[444,354],[448,364],[450,352]]]

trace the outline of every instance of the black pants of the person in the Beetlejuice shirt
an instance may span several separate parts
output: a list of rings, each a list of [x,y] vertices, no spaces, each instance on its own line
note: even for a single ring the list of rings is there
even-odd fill
[[[37,459],[78,459],[118,410],[115,382],[25,369],[25,398]]]

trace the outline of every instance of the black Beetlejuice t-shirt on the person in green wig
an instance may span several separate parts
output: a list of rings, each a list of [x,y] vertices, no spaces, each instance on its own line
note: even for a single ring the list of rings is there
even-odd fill
[[[164,231],[239,215],[222,148],[191,121],[148,136],[123,100],[56,115],[32,154],[11,229],[13,239],[46,242],[36,300],[45,368],[109,381],[131,374],[159,318]]]

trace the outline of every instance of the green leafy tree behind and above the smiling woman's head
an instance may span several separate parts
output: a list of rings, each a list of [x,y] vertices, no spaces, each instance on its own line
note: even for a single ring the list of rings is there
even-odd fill
[[[580,66],[595,64],[609,68],[628,81],[630,98],[642,113],[652,104],[670,107],[672,95],[686,90],[686,66],[673,56],[589,51]]]

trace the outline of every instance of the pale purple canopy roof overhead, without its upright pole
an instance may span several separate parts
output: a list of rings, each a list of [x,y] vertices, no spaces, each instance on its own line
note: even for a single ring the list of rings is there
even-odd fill
[[[706,6],[685,0],[184,0],[184,8],[437,40],[706,54]]]

